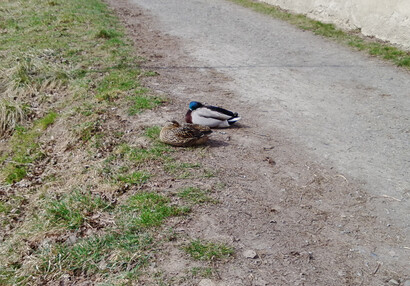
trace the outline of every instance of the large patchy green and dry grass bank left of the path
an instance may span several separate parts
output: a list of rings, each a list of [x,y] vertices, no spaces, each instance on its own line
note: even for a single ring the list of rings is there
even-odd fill
[[[0,19],[0,285],[147,282],[163,244],[179,247],[172,225],[210,199],[155,178],[213,176],[159,126],[129,130],[167,102],[140,83],[156,73],[100,0],[0,1]]]

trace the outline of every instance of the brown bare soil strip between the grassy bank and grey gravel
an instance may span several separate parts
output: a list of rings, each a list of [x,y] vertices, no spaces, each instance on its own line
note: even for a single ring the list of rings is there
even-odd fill
[[[388,217],[408,197],[369,193],[282,129],[266,132],[254,108],[263,100],[240,100],[229,75],[190,56],[186,43],[164,32],[148,11],[125,0],[108,3],[145,58],[143,68],[157,72],[144,85],[171,98],[157,121],[182,121],[193,99],[242,116],[236,126],[214,131],[202,159],[225,186],[214,193],[220,203],[198,208],[177,229],[235,248],[216,277],[196,285],[402,285],[410,279],[408,237]],[[174,249],[154,270],[171,285],[193,285],[175,280],[192,263]]]

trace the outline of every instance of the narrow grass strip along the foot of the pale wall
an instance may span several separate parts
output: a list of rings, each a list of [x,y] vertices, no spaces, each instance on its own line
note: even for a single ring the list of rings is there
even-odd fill
[[[345,32],[336,28],[333,24],[326,24],[312,20],[301,14],[289,13],[277,6],[272,6],[266,3],[255,2],[252,0],[230,1],[250,8],[256,12],[286,21],[305,31],[311,31],[316,35],[336,40],[339,43],[351,46],[360,51],[365,51],[369,55],[388,60],[397,66],[410,69],[410,52],[401,50],[388,43],[381,41],[377,42],[374,41],[374,39],[366,38],[353,32]]]

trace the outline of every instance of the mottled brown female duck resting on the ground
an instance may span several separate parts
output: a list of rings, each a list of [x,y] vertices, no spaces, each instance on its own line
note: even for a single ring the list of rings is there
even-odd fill
[[[173,120],[162,127],[159,139],[165,144],[188,147],[205,143],[211,133],[212,130],[208,126],[199,124],[180,125]]]

